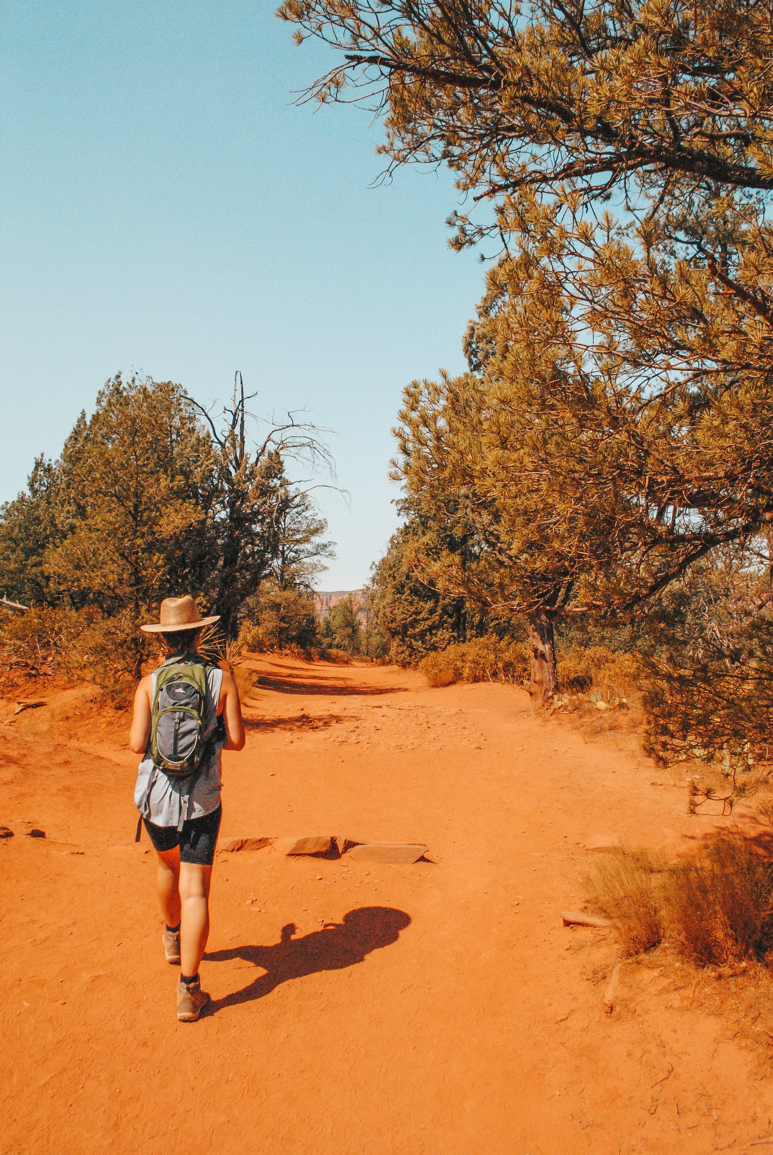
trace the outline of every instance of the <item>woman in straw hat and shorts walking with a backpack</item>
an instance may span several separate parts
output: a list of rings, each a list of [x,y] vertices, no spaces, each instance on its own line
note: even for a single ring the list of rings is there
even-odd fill
[[[166,961],[181,966],[177,1018],[195,1022],[209,996],[199,964],[209,936],[209,882],[220,830],[221,750],[241,750],[244,721],[236,681],[202,657],[201,618],[192,597],[168,597],[161,621],[166,661],[140,681],[129,747],[144,754],[134,802],[158,856],[158,900]],[[140,826],[137,825],[137,837]]]

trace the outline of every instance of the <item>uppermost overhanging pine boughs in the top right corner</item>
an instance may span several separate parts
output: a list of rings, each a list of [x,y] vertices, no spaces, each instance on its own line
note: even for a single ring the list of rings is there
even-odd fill
[[[392,166],[464,192],[773,188],[773,13],[755,0],[284,0],[341,53],[306,97],[385,117]]]

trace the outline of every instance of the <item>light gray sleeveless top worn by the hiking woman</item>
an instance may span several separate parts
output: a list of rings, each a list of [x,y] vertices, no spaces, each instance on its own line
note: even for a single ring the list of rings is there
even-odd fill
[[[156,694],[156,673],[151,673],[151,698]],[[221,802],[222,760],[224,738],[217,737],[217,703],[223,684],[223,671],[207,668],[207,698],[205,700],[203,738],[208,743],[201,765],[189,778],[168,778],[154,766],[149,751],[140,762],[134,788],[134,805],[154,826],[176,826],[189,818],[203,818],[217,810]]]

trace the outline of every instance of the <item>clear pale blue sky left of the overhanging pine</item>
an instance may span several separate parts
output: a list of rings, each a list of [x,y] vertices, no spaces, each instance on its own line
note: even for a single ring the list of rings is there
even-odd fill
[[[350,589],[396,523],[400,392],[464,367],[483,270],[446,246],[448,173],[371,187],[380,126],[293,105],[332,57],[274,8],[0,6],[0,500],[118,370],[208,403],[239,368],[337,431],[320,586]]]

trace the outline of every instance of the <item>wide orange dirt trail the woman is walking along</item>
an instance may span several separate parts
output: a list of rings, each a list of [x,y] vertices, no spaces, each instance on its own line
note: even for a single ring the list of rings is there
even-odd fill
[[[730,1018],[646,962],[623,963],[607,1014],[614,936],[560,917],[604,845],[700,840],[716,820],[687,817],[684,788],[514,687],[248,664],[222,843],[329,834],[425,859],[218,851],[213,1003],[178,1023],[126,716],[88,688],[0,703],[2,1155],[649,1155],[771,1135],[768,1063]]]

